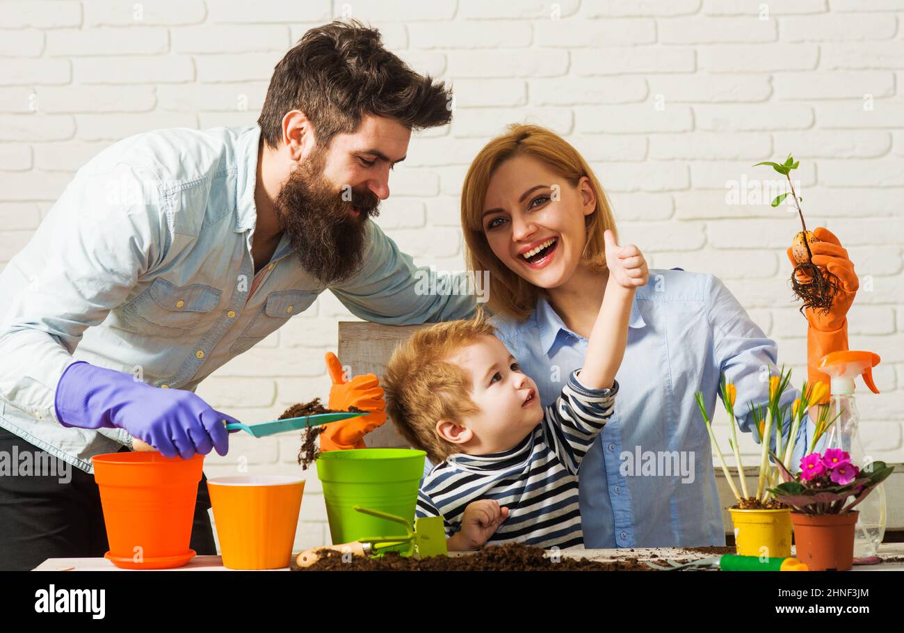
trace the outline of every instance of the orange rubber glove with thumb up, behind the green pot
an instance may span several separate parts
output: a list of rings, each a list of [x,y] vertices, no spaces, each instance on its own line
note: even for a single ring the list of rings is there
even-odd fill
[[[326,353],[326,368],[333,381],[327,408],[346,411],[350,406],[355,406],[371,413],[325,424],[325,430],[320,435],[320,449],[366,449],[364,436],[386,421],[383,389],[372,373],[354,376],[352,380],[346,382],[342,365],[332,352]]]

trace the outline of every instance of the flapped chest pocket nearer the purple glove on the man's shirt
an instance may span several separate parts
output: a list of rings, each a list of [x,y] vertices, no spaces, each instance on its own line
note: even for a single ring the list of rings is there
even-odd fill
[[[154,326],[155,333],[182,335],[192,331],[220,303],[221,290],[204,284],[176,286],[162,277],[123,308],[133,322]]]

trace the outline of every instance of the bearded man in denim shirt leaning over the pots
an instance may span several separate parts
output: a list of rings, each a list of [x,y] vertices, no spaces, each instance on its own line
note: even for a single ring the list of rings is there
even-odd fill
[[[448,123],[449,102],[376,30],[334,22],[278,62],[257,126],[147,132],[79,170],[0,275],[0,453],[60,467],[0,477],[0,568],[103,555],[92,456],[225,455],[238,420],[194,390],[325,289],[380,323],[473,312],[417,292],[419,269],[371,221],[411,130]],[[368,381],[341,387],[344,404],[373,402]],[[356,420],[334,442],[385,413]],[[215,553],[209,507],[202,479],[197,553]]]

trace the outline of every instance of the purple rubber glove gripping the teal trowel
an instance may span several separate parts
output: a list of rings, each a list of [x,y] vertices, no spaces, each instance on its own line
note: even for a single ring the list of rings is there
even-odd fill
[[[211,449],[225,455],[229,433],[223,420],[238,421],[193,392],[158,389],[84,361],[62,373],[53,404],[64,427],[125,429],[167,458],[189,459]]]

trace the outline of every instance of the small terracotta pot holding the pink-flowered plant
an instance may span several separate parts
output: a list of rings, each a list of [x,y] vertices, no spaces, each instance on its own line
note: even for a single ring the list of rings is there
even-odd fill
[[[853,563],[853,528],[860,512],[843,515],[791,513],[797,560],[811,572],[845,572]]]

